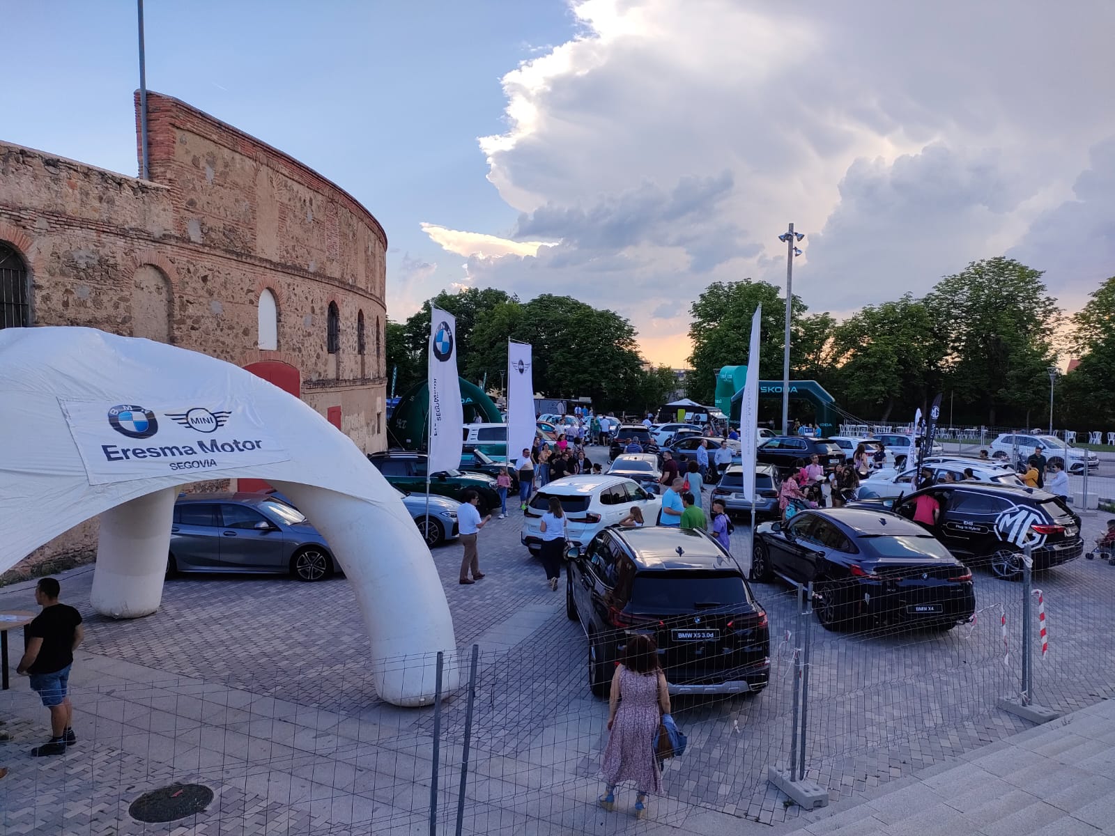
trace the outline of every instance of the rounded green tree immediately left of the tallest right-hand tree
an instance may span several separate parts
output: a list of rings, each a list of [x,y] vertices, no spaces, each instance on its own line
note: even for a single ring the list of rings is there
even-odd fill
[[[886,421],[895,407],[924,408],[940,386],[947,352],[929,309],[906,293],[837,325],[830,358],[840,368],[845,408]]]

